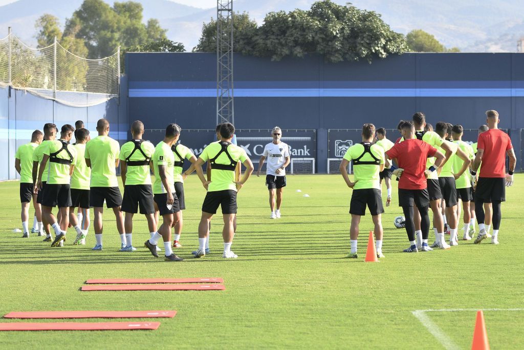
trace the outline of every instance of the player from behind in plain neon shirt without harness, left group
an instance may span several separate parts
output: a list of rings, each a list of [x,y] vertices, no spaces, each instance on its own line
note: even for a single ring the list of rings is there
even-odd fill
[[[118,166],[120,146],[116,140],[109,137],[109,122],[99,119],[96,123],[98,136],[85,144],[85,164],[91,168],[89,204],[94,211],[94,231],[96,245],[92,250],[102,250],[102,214],[104,200],[107,208],[113,209],[116,218],[116,229],[120,235],[121,248],[125,248],[124,215],[120,211],[122,195],[118,188],[115,168]]]

